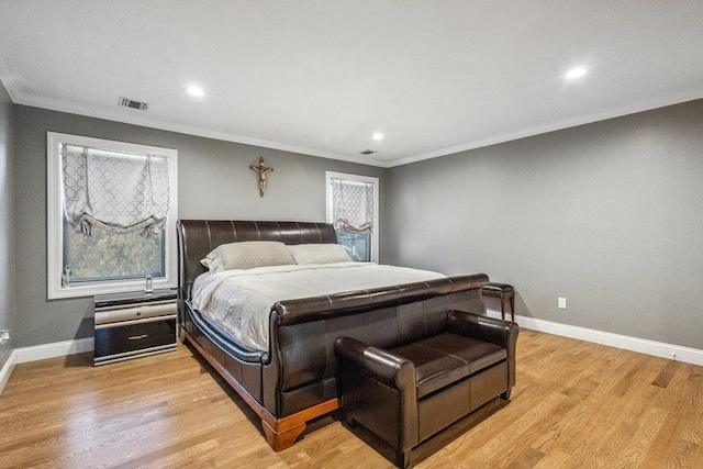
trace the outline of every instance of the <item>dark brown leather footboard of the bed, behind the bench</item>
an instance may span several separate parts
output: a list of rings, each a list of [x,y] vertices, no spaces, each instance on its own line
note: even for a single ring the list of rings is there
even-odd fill
[[[264,405],[286,416],[336,399],[338,337],[391,347],[437,334],[446,328],[448,311],[486,314],[481,287],[487,282],[479,273],[390,287],[389,298],[378,289],[277,303],[270,362],[263,369]],[[368,304],[370,299],[376,303]]]

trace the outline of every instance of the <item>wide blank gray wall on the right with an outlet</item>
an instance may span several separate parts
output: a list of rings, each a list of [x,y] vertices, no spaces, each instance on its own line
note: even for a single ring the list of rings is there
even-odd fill
[[[392,168],[389,263],[526,316],[703,348],[703,100]],[[557,309],[557,298],[567,310]]]

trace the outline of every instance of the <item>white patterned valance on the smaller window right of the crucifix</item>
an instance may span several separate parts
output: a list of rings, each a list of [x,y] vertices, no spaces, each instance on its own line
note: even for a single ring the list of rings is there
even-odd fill
[[[332,220],[335,228],[347,233],[373,231],[373,183],[332,178]]]

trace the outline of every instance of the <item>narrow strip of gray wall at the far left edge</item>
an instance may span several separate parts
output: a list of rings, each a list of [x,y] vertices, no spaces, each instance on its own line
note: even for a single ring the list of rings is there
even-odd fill
[[[13,209],[13,148],[14,105],[0,82],[0,330],[10,330],[15,336],[14,322],[14,209]],[[15,340],[0,345],[0,368],[4,366],[15,347]]]

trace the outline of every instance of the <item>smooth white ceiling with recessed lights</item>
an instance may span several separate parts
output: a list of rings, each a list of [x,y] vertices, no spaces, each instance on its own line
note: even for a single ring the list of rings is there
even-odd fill
[[[702,0],[0,0],[0,79],[21,104],[388,167],[703,98],[702,31]]]

